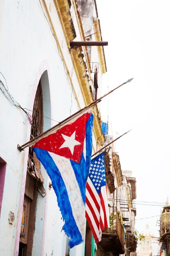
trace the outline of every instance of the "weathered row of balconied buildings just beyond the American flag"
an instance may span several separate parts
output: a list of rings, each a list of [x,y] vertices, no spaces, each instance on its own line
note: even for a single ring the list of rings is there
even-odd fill
[[[106,139],[104,145],[107,145],[113,141],[113,136],[106,134],[106,124],[102,127]],[[95,255],[135,256],[136,208],[132,201],[136,199],[136,179],[131,177],[131,171],[121,170],[119,155],[113,152],[113,144],[106,148],[105,167],[110,228],[102,231],[102,240],[96,245]]]

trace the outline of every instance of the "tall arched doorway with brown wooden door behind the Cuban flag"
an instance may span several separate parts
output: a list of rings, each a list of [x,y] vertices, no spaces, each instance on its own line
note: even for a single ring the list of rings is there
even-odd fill
[[[48,73],[45,71],[38,83],[35,94],[30,139],[41,134],[51,127],[51,100]],[[40,194],[46,194],[47,174],[41,172],[40,162],[29,148],[26,183],[24,191],[24,204],[20,230],[19,256],[32,255],[33,240],[38,216],[38,200]],[[45,207],[42,209],[45,214]],[[40,229],[43,229],[40,227]],[[41,248],[41,247],[40,247]]]

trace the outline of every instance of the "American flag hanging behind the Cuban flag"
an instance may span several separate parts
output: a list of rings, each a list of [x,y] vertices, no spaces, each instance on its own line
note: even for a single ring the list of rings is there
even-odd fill
[[[110,226],[104,153],[91,160],[86,183],[86,219],[98,243],[102,239],[102,230]]]

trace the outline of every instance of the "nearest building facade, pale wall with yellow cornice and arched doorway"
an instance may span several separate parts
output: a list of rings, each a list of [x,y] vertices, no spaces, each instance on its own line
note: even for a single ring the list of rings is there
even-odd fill
[[[68,248],[45,169],[31,149],[17,148],[101,96],[104,48],[70,45],[102,40],[96,4],[83,23],[83,2],[0,2],[1,256],[85,254],[85,243]],[[99,108],[93,152],[104,142]]]

